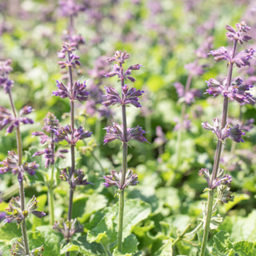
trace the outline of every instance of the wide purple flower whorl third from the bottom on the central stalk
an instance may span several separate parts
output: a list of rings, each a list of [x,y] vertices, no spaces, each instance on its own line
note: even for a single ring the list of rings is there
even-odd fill
[[[142,105],[138,102],[138,97],[142,96],[144,90],[136,90],[135,88],[130,88],[125,85],[122,86],[122,97],[119,96],[118,91],[114,89],[114,87],[105,87],[106,101],[102,102],[104,106],[112,106],[115,104],[120,105],[129,105],[132,104],[135,107],[142,107]]]

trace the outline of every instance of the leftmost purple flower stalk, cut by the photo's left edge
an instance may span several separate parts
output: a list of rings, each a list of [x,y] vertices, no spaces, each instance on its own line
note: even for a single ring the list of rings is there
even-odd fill
[[[26,205],[25,202],[25,190],[23,184],[24,174],[34,175],[35,171],[38,169],[36,162],[23,162],[22,163],[22,135],[20,131],[21,124],[32,124],[34,123],[32,119],[27,118],[26,115],[32,112],[31,106],[24,106],[19,110],[18,114],[14,106],[13,97],[11,94],[11,88],[13,87],[13,81],[10,80],[9,74],[12,68],[10,67],[11,61],[6,60],[1,63],[0,67],[0,84],[3,87],[6,94],[8,94],[10,99],[11,111],[7,110],[5,107],[0,106],[0,130],[6,128],[6,133],[10,134],[13,130],[16,130],[16,142],[17,142],[17,154],[14,150],[8,152],[8,157],[3,160],[0,167],[0,174],[5,174],[7,172],[12,172],[12,174],[18,175],[18,185],[19,185],[19,197],[11,198],[9,202],[9,207],[6,210],[10,215],[6,215],[5,222],[17,222],[18,226],[22,229],[22,238],[18,242],[14,242],[12,255],[16,255],[17,251],[22,251],[22,255],[29,255],[29,242],[26,232],[26,218],[28,215],[34,214],[38,218],[42,218],[45,214],[39,212],[36,209],[37,201],[33,197],[30,202]]]

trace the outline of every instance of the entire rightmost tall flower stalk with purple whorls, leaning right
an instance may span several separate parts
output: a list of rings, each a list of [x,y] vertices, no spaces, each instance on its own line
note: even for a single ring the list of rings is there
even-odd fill
[[[234,142],[243,142],[242,135],[245,133],[242,132],[238,125],[230,127],[230,125],[227,123],[229,102],[237,101],[240,105],[255,102],[255,99],[248,92],[251,86],[243,84],[241,78],[232,78],[234,65],[238,68],[242,66],[250,66],[250,58],[252,58],[254,54],[254,50],[252,48],[237,53],[238,44],[247,42],[251,37],[246,34],[250,30],[250,27],[246,26],[245,22],[236,24],[236,28],[237,30],[235,30],[232,26],[226,26],[226,30],[228,31],[226,36],[233,41],[232,50],[227,50],[225,47],[220,47],[218,50],[212,50],[210,52],[210,54],[214,56],[215,61],[219,62],[226,60],[229,68],[227,77],[222,82],[218,82],[218,80],[214,78],[211,78],[207,82],[208,90],[206,90],[206,93],[211,94],[214,97],[222,94],[224,99],[221,121],[219,121],[218,118],[214,118],[213,126],[211,126],[208,122],[202,123],[202,127],[204,129],[211,130],[215,135],[217,135],[218,142],[215,150],[212,172],[210,173],[210,170],[204,168],[199,171],[199,175],[206,179],[209,186],[200,256],[204,256],[206,254],[206,245],[210,233],[210,225],[214,218],[213,215],[216,212],[216,206],[214,204],[215,189],[218,188],[219,201],[229,202],[233,199],[230,196],[230,183],[232,178],[227,174],[223,174],[223,170],[219,169],[219,163],[222,154],[222,147],[226,138],[231,138]]]

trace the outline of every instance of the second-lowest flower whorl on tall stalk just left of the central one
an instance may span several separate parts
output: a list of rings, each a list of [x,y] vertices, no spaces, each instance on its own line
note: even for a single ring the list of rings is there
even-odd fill
[[[61,170],[60,179],[63,182],[68,182],[70,184],[71,190],[75,190],[76,186],[79,185],[89,185],[92,184],[90,182],[87,182],[86,179],[84,179],[85,174],[81,169],[74,170],[74,172],[71,171],[71,168],[65,168]]]

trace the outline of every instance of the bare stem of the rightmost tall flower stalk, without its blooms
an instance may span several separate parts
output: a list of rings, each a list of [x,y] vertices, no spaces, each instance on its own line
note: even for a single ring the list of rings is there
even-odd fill
[[[232,53],[232,58],[234,58],[235,52],[236,52],[236,47],[237,47],[237,40],[234,41],[234,47],[233,47],[233,53]],[[227,82],[226,82],[226,90],[231,84],[231,78],[232,78],[232,72],[233,72],[233,65],[234,63],[231,62],[228,70],[228,77],[227,77]],[[228,98],[224,98],[223,101],[223,108],[222,108],[222,125],[221,129],[223,129],[226,126],[226,118],[227,118],[227,112],[228,112]],[[217,147],[215,150],[215,155],[214,155],[214,166],[213,166],[213,172],[211,174],[211,184],[210,187],[212,187],[212,183],[214,182],[214,179],[217,177],[218,174],[218,166],[221,158],[221,153],[222,153],[222,144],[223,142],[218,140]],[[208,192],[208,202],[207,202],[207,212],[206,212],[206,222],[204,225],[204,233],[203,233],[203,238],[202,238],[202,246],[201,246],[201,252],[200,256],[204,256],[206,254],[206,245],[208,242],[208,236],[210,233],[210,220],[212,216],[212,210],[213,210],[213,204],[214,204],[214,189],[211,189]]]

